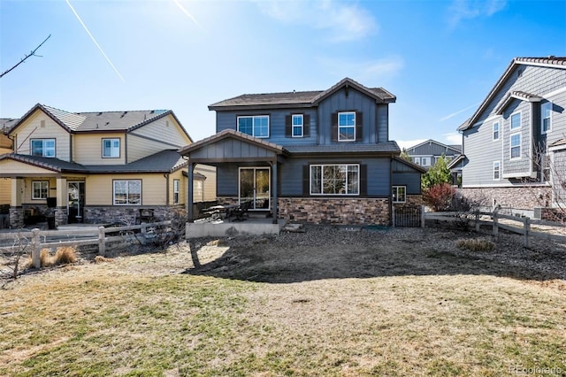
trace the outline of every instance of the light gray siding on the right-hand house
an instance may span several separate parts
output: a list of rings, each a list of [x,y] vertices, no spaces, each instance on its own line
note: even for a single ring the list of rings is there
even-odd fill
[[[463,130],[464,150],[466,163],[463,173],[463,187],[496,187],[510,186],[516,180],[505,179],[504,176],[516,175],[517,178],[528,175],[532,168],[532,142],[547,145],[560,140],[566,135],[566,113],[562,104],[566,103],[566,70],[533,65],[515,66],[509,74],[507,81],[493,94],[493,98],[486,104],[486,108],[478,114],[476,122]],[[519,99],[509,99],[510,92],[532,93],[542,96],[542,102],[552,101],[552,130],[541,135],[538,102],[528,102]],[[555,93],[553,93],[555,92]],[[550,94],[551,96],[547,96]],[[505,104],[504,107],[502,107]],[[532,105],[533,104],[533,105]],[[496,112],[501,112],[497,114]],[[509,136],[510,117],[513,113],[521,113],[520,130],[513,130],[513,134],[521,134],[521,157],[514,160],[510,158]],[[531,117],[535,117],[536,126],[531,129]],[[499,121],[500,138],[493,140],[493,122]],[[501,163],[501,179],[493,180],[493,162]],[[511,177],[509,177],[511,178]]]

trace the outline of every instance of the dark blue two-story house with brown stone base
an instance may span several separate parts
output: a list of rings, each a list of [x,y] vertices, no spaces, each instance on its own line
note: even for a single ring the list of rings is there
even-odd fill
[[[394,204],[420,203],[424,172],[389,140],[395,99],[348,78],[327,90],[236,96],[209,106],[217,134],[180,153],[189,176],[195,164],[217,166],[219,202],[249,202],[274,222],[389,225]]]

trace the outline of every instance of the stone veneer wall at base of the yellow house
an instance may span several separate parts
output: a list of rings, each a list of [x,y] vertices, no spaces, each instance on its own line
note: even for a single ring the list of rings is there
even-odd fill
[[[187,210],[184,205],[170,206],[86,206],[83,210],[84,222],[88,224],[112,224],[124,222],[126,224],[135,224],[140,217],[140,210],[153,210],[153,218],[156,221],[172,219],[173,216],[187,216]]]

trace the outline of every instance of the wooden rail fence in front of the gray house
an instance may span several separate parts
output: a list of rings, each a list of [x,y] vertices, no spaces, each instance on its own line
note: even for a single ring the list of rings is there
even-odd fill
[[[487,219],[486,219],[487,218]],[[532,225],[543,225],[552,227],[564,227],[560,223],[551,221],[530,219],[528,217],[517,217],[495,212],[425,212],[424,219],[433,219],[441,221],[472,221],[476,232],[480,231],[480,225],[488,225],[492,227],[492,235],[498,235],[499,229],[505,229],[509,232],[524,236],[524,247],[531,248],[532,237],[553,240],[557,242],[566,242],[566,235],[555,235],[547,232],[539,232],[532,230]],[[508,220],[501,222],[501,219]],[[519,223],[517,226],[516,223]]]

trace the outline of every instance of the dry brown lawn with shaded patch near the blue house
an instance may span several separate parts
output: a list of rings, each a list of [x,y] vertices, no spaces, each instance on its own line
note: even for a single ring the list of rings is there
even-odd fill
[[[477,238],[309,227],[28,273],[0,375],[566,374],[565,249]]]

